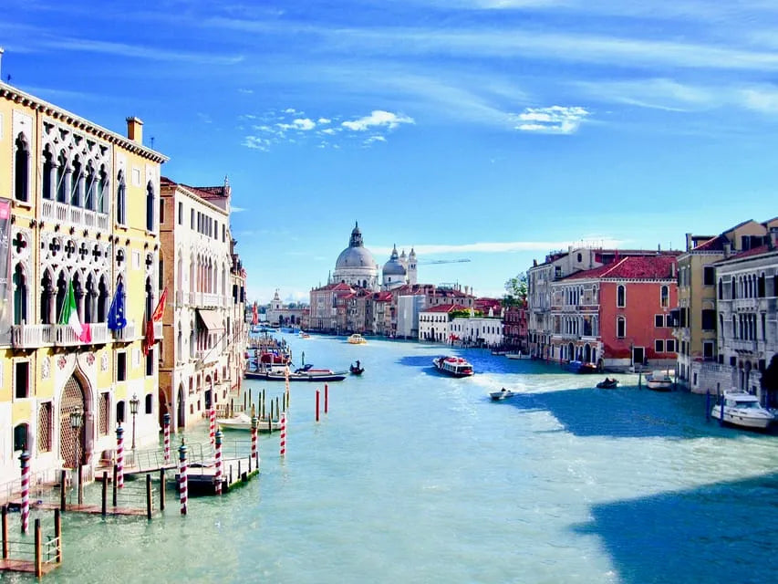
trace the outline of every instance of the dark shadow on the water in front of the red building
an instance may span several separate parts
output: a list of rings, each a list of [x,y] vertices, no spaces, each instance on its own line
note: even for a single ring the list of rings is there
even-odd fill
[[[625,386],[617,390],[576,389],[524,393],[508,401],[520,410],[551,412],[576,436],[614,438],[737,438],[742,432],[706,421],[704,395],[657,392]],[[759,436],[759,433],[753,433]]]

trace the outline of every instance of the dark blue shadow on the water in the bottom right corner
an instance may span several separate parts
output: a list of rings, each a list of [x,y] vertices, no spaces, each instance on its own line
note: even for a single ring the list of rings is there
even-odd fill
[[[775,582],[778,474],[592,507],[620,581]]]

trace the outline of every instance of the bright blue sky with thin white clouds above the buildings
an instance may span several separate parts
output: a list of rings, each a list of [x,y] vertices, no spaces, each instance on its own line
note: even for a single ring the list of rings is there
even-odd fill
[[[307,298],[359,222],[500,296],[575,242],[778,214],[778,3],[5,0],[2,75],[233,186],[249,298]],[[425,264],[468,258],[470,262]]]

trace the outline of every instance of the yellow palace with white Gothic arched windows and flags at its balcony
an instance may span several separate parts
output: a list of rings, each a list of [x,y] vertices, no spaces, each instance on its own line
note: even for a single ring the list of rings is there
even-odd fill
[[[158,349],[144,356],[143,344],[160,297],[167,158],[143,146],[140,120],[128,118],[127,130],[106,130],[0,82],[0,198],[11,207],[0,234],[10,278],[3,287],[0,276],[0,483],[18,477],[23,449],[34,473],[77,460],[93,470],[113,456],[119,422],[128,448],[133,434],[138,446],[158,440]],[[110,329],[119,283],[127,324]],[[89,329],[80,338],[59,324],[71,287]],[[80,428],[71,427],[76,411]]]

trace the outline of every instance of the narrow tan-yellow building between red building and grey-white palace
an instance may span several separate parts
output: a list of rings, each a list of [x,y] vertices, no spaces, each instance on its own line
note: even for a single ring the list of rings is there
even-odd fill
[[[773,220],[774,222],[774,220]],[[744,221],[721,235],[686,235],[686,252],[678,258],[678,379],[690,391],[729,390],[731,370],[717,348],[716,269],[729,255],[762,245],[772,223]]]

